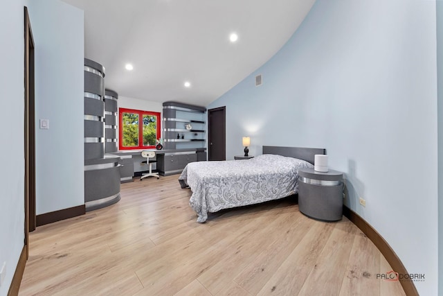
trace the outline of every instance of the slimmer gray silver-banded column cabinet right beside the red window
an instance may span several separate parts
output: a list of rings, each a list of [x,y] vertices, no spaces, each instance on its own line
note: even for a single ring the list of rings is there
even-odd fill
[[[118,94],[105,89],[105,153],[118,150]]]

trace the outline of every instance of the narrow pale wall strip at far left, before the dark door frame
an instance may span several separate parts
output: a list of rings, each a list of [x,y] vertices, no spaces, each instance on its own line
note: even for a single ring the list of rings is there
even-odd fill
[[[24,246],[24,5],[0,3],[0,268],[6,277],[0,295],[7,295]],[[6,45],[7,44],[7,45]]]

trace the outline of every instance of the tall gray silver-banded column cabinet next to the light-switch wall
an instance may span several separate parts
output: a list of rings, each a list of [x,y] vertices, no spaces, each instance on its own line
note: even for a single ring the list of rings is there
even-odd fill
[[[84,59],[84,159],[105,156],[105,67]]]

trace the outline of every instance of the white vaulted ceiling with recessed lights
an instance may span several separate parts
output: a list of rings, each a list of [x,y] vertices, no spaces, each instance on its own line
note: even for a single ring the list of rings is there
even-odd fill
[[[315,0],[62,1],[84,10],[84,55],[107,88],[206,106],[277,53]]]

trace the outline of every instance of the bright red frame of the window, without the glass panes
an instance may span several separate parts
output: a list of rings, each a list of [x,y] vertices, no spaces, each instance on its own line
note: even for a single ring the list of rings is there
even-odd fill
[[[138,114],[138,146],[125,147],[123,146],[123,113]],[[143,146],[143,115],[150,115],[157,117],[156,139],[161,137],[161,114],[160,112],[143,111],[136,109],[118,108],[118,149],[119,150],[139,150],[155,148],[155,145]]]

